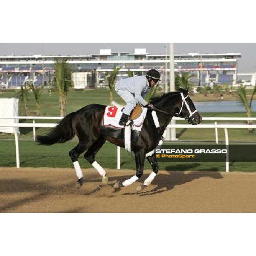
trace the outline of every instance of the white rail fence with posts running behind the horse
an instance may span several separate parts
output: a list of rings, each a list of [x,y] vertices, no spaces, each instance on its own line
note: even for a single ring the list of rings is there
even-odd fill
[[[19,154],[19,140],[18,134],[16,132],[15,127],[30,127],[33,128],[33,140],[35,140],[35,128],[53,128],[57,124],[56,123],[35,123],[35,120],[58,120],[62,119],[60,116],[13,116],[13,117],[0,117],[0,119],[32,119],[32,123],[1,123],[0,127],[13,127],[14,135],[15,135],[15,150],[16,150],[16,167],[20,168],[20,154]],[[175,120],[182,120],[181,118],[175,117]],[[226,148],[229,145],[229,138],[227,129],[230,128],[241,128],[241,129],[255,129],[256,125],[246,125],[246,124],[218,124],[216,121],[255,121],[255,117],[247,118],[247,117],[203,117],[203,120],[212,120],[215,121],[214,124],[200,124],[200,125],[189,125],[189,124],[175,124],[168,125],[167,128],[214,128],[215,129],[215,142],[218,143],[218,128],[223,128],[225,133],[225,144]],[[117,169],[121,169],[121,153],[120,147],[117,147]],[[229,172],[229,155],[226,154],[226,172]]]

